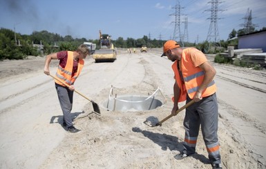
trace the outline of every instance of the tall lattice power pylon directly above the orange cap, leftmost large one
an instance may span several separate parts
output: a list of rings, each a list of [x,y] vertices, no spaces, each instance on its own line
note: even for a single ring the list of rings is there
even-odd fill
[[[180,32],[180,10],[181,10],[181,6],[180,6],[179,1],[176,1],[176,4],[172,9],[174,9],[175,12],[173,14],[169,14],[169,16],[175,17],[175,21],[173,21],[173,23],[175,23],[175,28],[173,30],[173,40],[179,41],[180,43],[182,43],[182,37],[181,37],[181,32]],[[183,45],[183,43],[182,43],[182,45]]]

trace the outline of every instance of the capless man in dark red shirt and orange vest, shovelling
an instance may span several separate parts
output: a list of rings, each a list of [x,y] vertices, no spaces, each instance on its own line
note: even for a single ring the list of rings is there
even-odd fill
[[[63,126],[66,126],[68,128],[68,131],[73,133],[80,131],[73,126],[73,120],[70,115],[73,105],[73,92],[75,90],[73,84],[82,71],[82,68],[84,66],[83,59],[85,59],[88,54],[88,47],[82,44],[74,52],[61,51],[53,54],[48,54],[46,56],[44,66],[44,73],[50,75],[49,66],[51,60],[59,60],[59,66],[54,77],[55,88],[57,90],[59,103],[64,115]]]

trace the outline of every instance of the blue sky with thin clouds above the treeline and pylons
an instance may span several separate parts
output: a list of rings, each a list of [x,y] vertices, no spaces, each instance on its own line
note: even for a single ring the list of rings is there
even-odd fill
[[[181,22],[188,18],[190,42],[207,39],[211,0],[180,0]],[[244,23],[249,8],[256,29],[266,27],[266,0],[220,0],[219,38],[226,40],[231,30]],[[0,0],[0,27],[21,34],[47,30],[74,38],[98,39],[99,30],[113,39],[131,37],[171,39],[173,6],[176,0]],[[214,31],[214,30],[213,30]],[[184,23],[180,25],[184,33]]]

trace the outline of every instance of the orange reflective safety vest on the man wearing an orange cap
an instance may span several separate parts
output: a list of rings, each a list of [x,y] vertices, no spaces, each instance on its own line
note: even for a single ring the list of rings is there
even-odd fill
[[[184,86],[187,90],[187,94],[189,95],[190,99],[193,99],[194,96],[196,95],[196,92],[199,88],[199,86],[201,85],[204,76],[205,76],[205,72],[199,68],[199,67],[195,67],[193,66],[193,63],[191,61],[191,57],[189,57],[189,54],[187,54],[189,52],[189,49],[184,49],[182,52],[182,57],[181,57],[181,71],[182,71],[182,76],[184,79]],[[175,63],[173,63],[173,65],[175,64],[175,68],[173,69],[175,72],[175,79],[176,81],[181,81],[181,77],[180,74],[178,72],[178,68],[177,68],[177,63],[178,61],[175,61]],[[174,67],[174,66],[172,66]],[[182,83],[178,83],[178,86],[180,88],[180,86],[182,86]],[[207,86],[207,88],[205,90],[202,91],[202,97],[207,97],[209,95],[213,95],[213,93],[216,92],[216,84],[213,81],[211,81],[211,83],[209,83],[209,85]],[[182,95],[184,95],[184,93],[182,93]],[[185,97],[185,96],[181,96],[180,97]]]

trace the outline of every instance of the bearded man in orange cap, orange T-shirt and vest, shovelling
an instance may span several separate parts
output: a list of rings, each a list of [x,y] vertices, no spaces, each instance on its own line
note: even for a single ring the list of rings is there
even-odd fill
[[[172,65],[175,74],[172,115],[176,115],[178,102],[195,101],[186,108],[184,150],[179,155],[175,155],[175,159],[184,159],[196,152],[201,125],[211,165],[213,168],[222,168],[217,135],[218,103],[216,84],[213,81],[216,70],[207,61],[205,54],[196,48],[182,49],[176,41],[169,40],[164,43],[163,51],[162,56],[167,56],[174,62]]]

